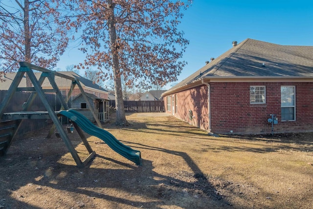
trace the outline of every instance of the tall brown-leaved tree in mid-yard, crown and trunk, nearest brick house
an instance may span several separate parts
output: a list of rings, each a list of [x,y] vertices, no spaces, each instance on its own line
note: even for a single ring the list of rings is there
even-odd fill
[[[98,66],[100,76],[113,78],[116,124],[127,125],[121,75],[133,76],[145,88],[177,80],[179,61],[188,41],[177,26],[191,0],[70,0],[79,5],[76,25],[83,30],[87,59],[81,68]]]

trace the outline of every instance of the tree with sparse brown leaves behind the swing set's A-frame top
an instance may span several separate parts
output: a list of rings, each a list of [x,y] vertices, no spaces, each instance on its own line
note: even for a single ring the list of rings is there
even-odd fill
[[[63,6],[55,0],[0,1],[0,80],[1,72],[17,70],[20,61],[56,66],[69,40]]]

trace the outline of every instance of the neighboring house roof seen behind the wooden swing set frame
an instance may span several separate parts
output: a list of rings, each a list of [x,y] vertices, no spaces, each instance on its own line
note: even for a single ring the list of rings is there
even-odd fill
[[[89,88],[89,89],[94,89],[94,90],[108,93],[107,90],[103,89],[102,87],[100,87],[97,84],[93,84],[92,81],[76,74],[73,71],[59,71],[59,73],[62,73],[64,75],[67,75],[67,76],[70,76],[73,78],[78,78],[83,88]],[[35,74],[36,78],[39,79],[41,72],[35,72],[34,74]],[[9,87],[11,86],[11,83],[12,83],[13,79],[15,78],[15,76],[16,76],[16,72],[6,73],[5,77],[4,77],[5,81],[0,83],[0,90],[8,90]],[[70,85],[71,85],[71,80],[68,80],[66,78],[59,77],[59,76],[55,76],[55,82],[59,88],[70,88]],[[23,76],[19,87],[26,87],[26,76],[25,75]],[[42,87],[43,88],[45,88],[45,87],[50,88],[51,87],[50,82],[47,78],[45,79]]]

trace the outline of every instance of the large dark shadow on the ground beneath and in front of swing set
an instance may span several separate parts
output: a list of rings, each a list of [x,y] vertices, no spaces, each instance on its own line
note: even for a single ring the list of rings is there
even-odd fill
[[[88,196],[90,200],[100,199],[109,201],[113,205],[122,204],[125,207],[231,208],[223,196],[215,192],[215,188],[197,164],[184,152],[132,143],[141,150],[152,149],[170,156],[179,156],[188,164],[192,172],[181,170],[170,175],[161,174],[154,171],[153,162],[149,160],[143,159],[142,165],[136,166],[101,155],[96,155],[96,158],[116,163],[118,169],[91,167],[92,162],[84,168],[78,168],[74,165],[58,163],[62,156],[68,154],[66,147],[59,149],[64,143],[61,139],[42,140],[19,140],[12,144],[6,156],[1,157],[0,168],[6,172],[0,176],[0,200],[3,200],[5,207],[34,209],[45,207],[45,205],[37,207],[26,203],[28,194],[24,187],[27,186],[27,191],[46,196],[48,201],[56,206],[59,202],[63,202],[65,205],[62,207],[67,208],[73,205],[64,201],[62,194],[70,196],[74,200],[72,204],[76,207],[75,201],[78,196]],[[28,143],[27,147],[23,146],[25,143]],[[55,147],[47,151],[53,145]],[[116,190],[119,192],[110,193]],[[51,191],[61,192],[56,195],[51,194]],[[118,193],[123,193],[125,197]],[[182,201],[183,198],[188,202]]]

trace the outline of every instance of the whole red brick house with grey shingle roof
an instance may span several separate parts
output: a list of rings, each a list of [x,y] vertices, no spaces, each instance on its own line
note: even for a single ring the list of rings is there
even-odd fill
[[[312,132],[312,95],[313,46],[253,39],[233,42],[162,94],[168,114],[226,135]],[[273,130],[271,114],[278,119]]]

